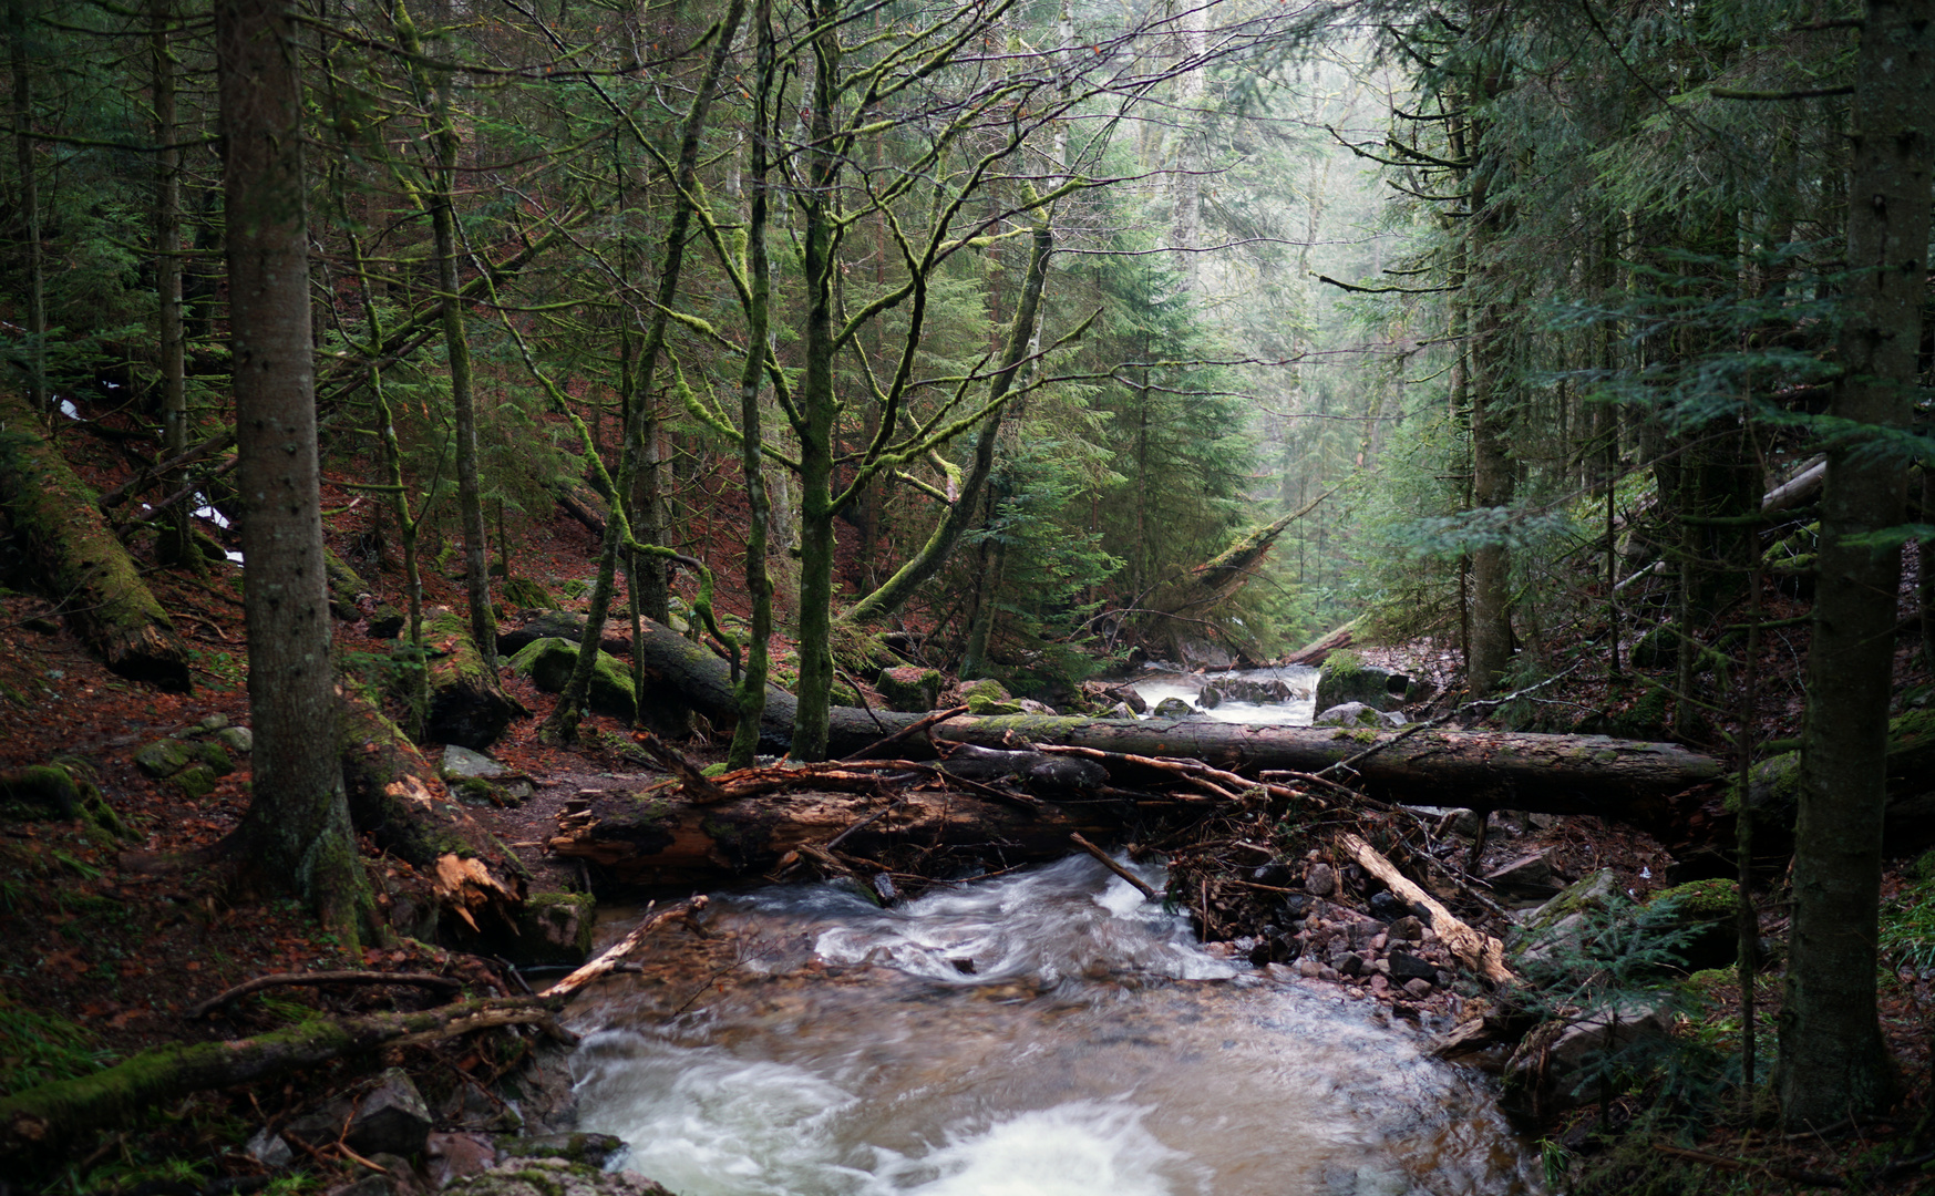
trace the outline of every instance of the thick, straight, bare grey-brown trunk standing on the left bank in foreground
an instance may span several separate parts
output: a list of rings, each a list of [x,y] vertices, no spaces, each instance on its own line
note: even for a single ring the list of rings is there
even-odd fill
[[[248,561],[253,799],[236,832],[255,875],[302,894],[354,950],[372,910],[335,718],[310,337],[302,79],[286,0],[219,0],[228,296]]]

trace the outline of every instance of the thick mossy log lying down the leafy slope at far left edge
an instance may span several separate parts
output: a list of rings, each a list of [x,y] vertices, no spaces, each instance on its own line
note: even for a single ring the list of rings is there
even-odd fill
[[[186,693],[188,646],[101,519],[95,492],[41,435],[19,395],[0,391],[0,499],[46,596],[87,650],[116,673]]]

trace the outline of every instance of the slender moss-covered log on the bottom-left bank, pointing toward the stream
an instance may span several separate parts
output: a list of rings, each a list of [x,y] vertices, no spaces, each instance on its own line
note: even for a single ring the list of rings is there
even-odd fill
[[[128,1124],[153,1105],[192,1091],[275,1080],[331,1059],[372,1055],[387,1045],[548,1022],[561,1004],[540,997],[470,1001],[420,1014],[308,1020],[226,1043],[155,1047],[79,1080],[0,1097],[0,1157],[58,1157],[89,1130]]]

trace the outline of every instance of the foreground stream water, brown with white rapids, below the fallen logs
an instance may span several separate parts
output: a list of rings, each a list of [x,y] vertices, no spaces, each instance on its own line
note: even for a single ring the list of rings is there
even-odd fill
[[[582,1126],[681,1196],[1536,1192],[1416,1030],[1198,948],[1087,857],[894,910],[768,888],[712,927],[724,968],[580,1010]]]

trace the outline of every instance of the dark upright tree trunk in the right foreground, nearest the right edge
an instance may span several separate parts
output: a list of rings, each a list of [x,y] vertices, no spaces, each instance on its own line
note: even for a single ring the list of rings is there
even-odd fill
[[[1856,58],[1842,377],[1821,497],[1794,927],[1776,1090],[1788,1130],[1889,1107],[1898,1088],[1875,1010],[1883,792],[1900,552],[1850,544],[1902,521],[1906,428],[1935,161],[1935,0],[1869,0]]]

